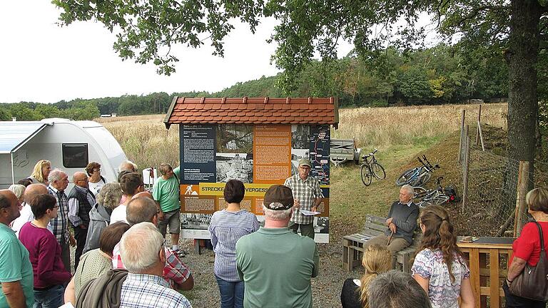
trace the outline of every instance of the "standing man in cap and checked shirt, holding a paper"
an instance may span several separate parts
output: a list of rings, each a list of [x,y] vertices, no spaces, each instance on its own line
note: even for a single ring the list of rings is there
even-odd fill
[[[285,180],[283,185],[293,190],[293,215],[289,222],[289,229],[297,232],[300,228],[300,234],[308,236],[314,240],[314,216],[304,215],[300,210],[309,210],[315,212],[318,205],[322,202],[322,190],[320,181],[310,176],[310,160],[301,158],[299,160],[299,173]]]

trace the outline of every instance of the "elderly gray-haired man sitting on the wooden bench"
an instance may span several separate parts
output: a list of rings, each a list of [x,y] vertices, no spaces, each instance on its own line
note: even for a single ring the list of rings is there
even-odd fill
[[[419,207],[413,202],[413,187],[403,185],[400,189],[400,200],[392,203],[385,221],[387,230],[365,242],[365,246],[380,245],[390,250],[392,256],[408,247],[413,242],[413,232],[417,228]]]

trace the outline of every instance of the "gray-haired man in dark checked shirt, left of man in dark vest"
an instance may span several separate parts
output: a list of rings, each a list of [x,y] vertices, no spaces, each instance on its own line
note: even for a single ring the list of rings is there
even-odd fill
[[[61,245],[61,259],[68,272],[71,272],[71,249],[70,246],[76,246],[76,240],[68,232],[68,197],[65,195],[68,186],[68,175],[62,170],[51,170],[48,176],[48,193],[53,195],[59,205],[57,217],[51,220],[51,230]]]

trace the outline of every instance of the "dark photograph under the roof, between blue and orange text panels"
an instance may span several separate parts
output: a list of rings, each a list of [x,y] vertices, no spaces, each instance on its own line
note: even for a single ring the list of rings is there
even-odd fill
[[[253,153],[253,125],[217,125],[217,153]]]

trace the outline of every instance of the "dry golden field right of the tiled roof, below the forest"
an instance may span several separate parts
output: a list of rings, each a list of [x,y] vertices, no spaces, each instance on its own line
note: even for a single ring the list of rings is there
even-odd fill
[[[355,138],[358,146],[379,149],[428,138],[439,140],[460,128],[463,109],[467,124],[475,125],[477,104],[341,109],[339,129],[332,130],[331,138]],[[483,104],[482,123],[506,130],[507,111],[506,103]]]

